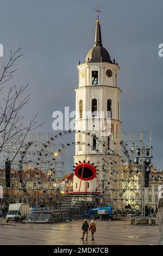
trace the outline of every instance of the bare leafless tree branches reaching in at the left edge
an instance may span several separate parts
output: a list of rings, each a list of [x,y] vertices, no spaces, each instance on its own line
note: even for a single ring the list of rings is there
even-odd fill
[[[13,143],[16,142],[17,151],[14,158],[21,149],[27,134],[42,125],[37,124],[37,115],[29,120],[27,126],[23,124],[21,110],[26,107],[30,100],[30,94],[26,93],[29,84],[21,88],[17,88],[14,85],[9,87],[8,91],[6,88],[8,83],[14,79],[14,74],[17,70],[17,60],[22,55],[21,47],[14,53],[10,51],[9,61],[7,64],[2,64],[0,72],[0,154],[10,149]]]

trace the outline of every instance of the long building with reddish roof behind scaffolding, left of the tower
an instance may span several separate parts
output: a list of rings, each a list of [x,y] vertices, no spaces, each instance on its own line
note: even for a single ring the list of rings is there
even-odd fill
[[[3,172],[0,179],[0,185],[3,187],[3,197],[0,199],[1,209],[14,203],[29,203],[30,206],[42,205],[48,209],[53,207],[52,199],[56,198],[56,188],[51,173],[43,173],[40,170],[38,176],[33,166],[24,166],[22,180],[28,195],[20,182],[18,170],[11,169],[10,186],[7,185]]]

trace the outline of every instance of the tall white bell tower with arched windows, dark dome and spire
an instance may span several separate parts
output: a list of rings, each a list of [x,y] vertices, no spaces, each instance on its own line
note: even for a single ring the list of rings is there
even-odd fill
[[[77,68],[79,86],[75,89],[77,113],[75,129],[89,132],[93,137],[76,133],[74,162],[85,161],[97,166],[96,137],[104,139],[108,149],[111,149],[113,136],[114,139],[120,141],[121,132],[121,89],[117,84],[120,67],[115,59],[111,60],[109,52],[103,47],[99,17],[97,18],[94,46],[87,52],[84,62],[79,62]],[[101,125],[102,123],[104,123],[104,127]],[[87,147],[88,144],[91,147]],[[99,176],[100,172],[99,170]],[[96,191],[96,187],[96,177],[81,181],[77,175],[73,176],[73,192],[93,192]]]

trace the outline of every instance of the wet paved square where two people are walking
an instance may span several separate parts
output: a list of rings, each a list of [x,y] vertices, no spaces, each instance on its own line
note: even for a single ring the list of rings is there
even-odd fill
[[[95,241],[82,241],[83,220],[58,224],[0,223],[0,245],[158,245],[158,226],[96,221]]]

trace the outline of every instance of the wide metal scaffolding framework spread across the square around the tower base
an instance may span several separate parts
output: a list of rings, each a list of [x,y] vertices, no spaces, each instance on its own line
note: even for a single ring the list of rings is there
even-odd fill
[[[1,208],[10,203],[29,202],[31,206],[44,206],[69,214],[71,211],[79,215],[93,207],[112,205],[116,215],[130,213],[145,216],[151,186],[152,133],[131,131],[117,135],[112,132],[109,145],[106,138],[96,137],[97,148],[94,150],[98,184],[96,191],[80,196],[65,193],[66,187],[62,182],[65,150],[79,143],[90,148],[93,144],[74,141],[56,143],[56,139],[74,133],[84,133],[90,138],[94,136],[84,131],[63,131],[57,135],[29,133],[17,154],[21,141],[14,141],[4,151],[3,159],[11,160],[11,176],[7,180],[5,168],[1,170],[0,182],[4,187]],[[86,161],[86,156],[84,158]]]

